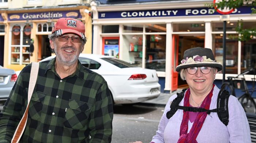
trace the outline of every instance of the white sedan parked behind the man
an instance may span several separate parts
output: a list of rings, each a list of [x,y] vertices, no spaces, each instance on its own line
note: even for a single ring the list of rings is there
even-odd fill
[[[54,57],[42,61],[49,61]],[[139,103],[160,95],[156,70],[136,67],[105,55],[80,54],[79,61],[107,81],[114,104]]]

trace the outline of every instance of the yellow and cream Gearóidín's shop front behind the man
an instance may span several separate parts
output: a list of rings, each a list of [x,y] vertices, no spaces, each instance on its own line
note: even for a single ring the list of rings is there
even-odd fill
[[[38,62],[52,55],[48,35],[59,18],[75,18],[86,23],[90,31],[91,25],[86,21],[84,9],[88,7],[72,7],[59,9],[37,9],[31,11],[7,11],[5,15],[6,32],[4,34],[4,65],[20,70],[31,62]],[[88,14],[87,14],[88,16]],[[1,19],[0,19],[1,20]],[[88,21],[90,19],[87,18]],[[1,23],[0,23],[1,24]],[[5,26],[5,25],[4,25]],[[1,27],[1,25],[0,25]],[[0,31],[1,33],[1,31]],[[91,34],[86,35],[87,38]],[[0,37],[1,40],[1,37]],[[90,41],[87,43],[90,52]],[[0,45],[1,47],[1,45]]]

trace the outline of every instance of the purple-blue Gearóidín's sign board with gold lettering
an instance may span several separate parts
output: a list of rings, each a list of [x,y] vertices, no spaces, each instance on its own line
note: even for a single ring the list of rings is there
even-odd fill
[[[79,11],[54,11],[54,12],[26,12],[8,14],[8,20],[38,20],[59,18],[82,18]]]

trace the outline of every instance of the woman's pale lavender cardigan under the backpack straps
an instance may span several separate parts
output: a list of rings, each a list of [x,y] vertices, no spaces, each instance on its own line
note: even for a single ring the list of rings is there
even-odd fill
[[[219,88],[214,87],[210,109],[217,107]],[[177,112],[168,120],[166,112],[170,111],[170,102],[177,97],[171,96],[166,104],[165,111],[158,125],[157,134],[151,142],[155,143],[177,143],[180,137],[180,124],[183,110]],[[183,106],[184,98],[180,104]],[[188,132],[193,123],[188,121]],[[196,138],[198,143],[251,143],[250,128],[244,109],[236,97],[229,97],[229,124],[226,126],[220,120],[216,112],[207,115],[206,120]]]

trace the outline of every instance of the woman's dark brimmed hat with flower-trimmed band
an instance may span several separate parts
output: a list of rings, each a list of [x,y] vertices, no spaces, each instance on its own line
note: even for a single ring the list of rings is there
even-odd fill
[[[222,70],[222,65],[215,61],[211,49],[196,47],[184,52],[181,64],[176,67],[176,71],[189,67],[215,67],[218,71]]]

